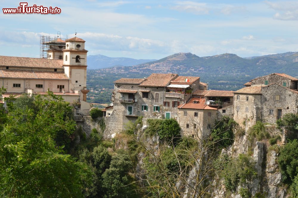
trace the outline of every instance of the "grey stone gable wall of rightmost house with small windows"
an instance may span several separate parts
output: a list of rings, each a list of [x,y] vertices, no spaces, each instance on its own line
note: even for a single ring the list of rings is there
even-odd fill
[[[276,95],[279,95],[279,100],[276,100]],[[297,105],[297,92],[277,84],[263,87],[262,121],[275,124],[278,110],[281,110],[281,116],[286,113],[297,113]]]

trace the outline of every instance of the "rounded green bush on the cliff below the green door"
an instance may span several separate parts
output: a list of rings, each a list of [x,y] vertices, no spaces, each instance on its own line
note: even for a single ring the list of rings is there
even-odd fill
[[[157,134],[162,141],[170,142],[173,138],[180,137],[180,130],[181,128],[175,119],[166,119],[159,124]]]

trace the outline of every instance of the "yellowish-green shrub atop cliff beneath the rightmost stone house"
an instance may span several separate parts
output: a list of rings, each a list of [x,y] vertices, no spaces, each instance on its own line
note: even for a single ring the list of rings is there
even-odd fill
[[[269,132],[266,130],[266,127],[261,121],[257,121],[256,124],[249,129],[248,135],[251,142],[254,138],[256,138],[257,141],[261,141],[270,137]]]

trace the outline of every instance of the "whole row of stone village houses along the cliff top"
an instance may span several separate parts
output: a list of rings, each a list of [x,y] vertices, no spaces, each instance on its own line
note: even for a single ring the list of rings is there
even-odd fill
[[[273,73],[244,84],[238,91],[207,90],[200,77],[151,74],[148,78],[121,78],[114,82],[106,107],[107,135],[124,130],[138,116],[176,119],[181,135],[207,136],[217,120],[233,118],[248,130],[257,121],[275,124],[286,113],[297,113],[298,79]]]

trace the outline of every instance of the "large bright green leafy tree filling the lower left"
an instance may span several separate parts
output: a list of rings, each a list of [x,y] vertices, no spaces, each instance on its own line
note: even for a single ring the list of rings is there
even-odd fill
[[[92,172],[54,140],[75,130],[69,103],[51,92],[28,97],[11,102],[1,124],[0,197],[83,197]]]

